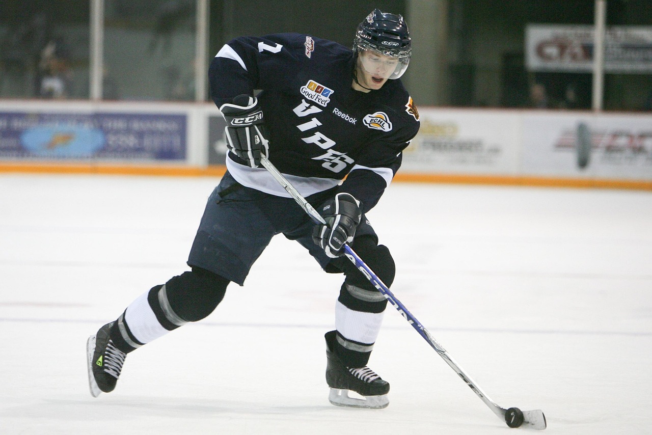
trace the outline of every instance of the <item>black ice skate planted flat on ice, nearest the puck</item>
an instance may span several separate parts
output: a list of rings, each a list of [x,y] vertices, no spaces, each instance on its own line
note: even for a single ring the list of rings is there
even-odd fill
[[[383,381],[371,368],[349,368],[333,352],[335,331],[326,333],[326,382],[331,387],[328,400],[336,406],[381,409],[389,405],[389,382]],[[349,397],[349,391],[363,398]]]

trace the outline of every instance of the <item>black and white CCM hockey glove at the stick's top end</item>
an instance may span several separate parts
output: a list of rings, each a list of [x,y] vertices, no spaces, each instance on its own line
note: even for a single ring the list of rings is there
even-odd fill
[[[226,119],[226,145],[231,153],[256,168],[260,156],[269,154],[267,127],[263,123],[263,111],[256,97],[238,95],[233,103],[222,104],[222,116]]]

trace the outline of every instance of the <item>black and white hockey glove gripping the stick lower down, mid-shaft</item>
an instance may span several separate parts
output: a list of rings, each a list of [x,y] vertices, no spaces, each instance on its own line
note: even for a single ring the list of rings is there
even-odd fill
[[[338,193],[318,208],[326,224],[315,226],[312,240],[319,245],[326,255],[336,258],[344,254],[344,243],[351,243],[362,217],[362,211],[353,195]]]

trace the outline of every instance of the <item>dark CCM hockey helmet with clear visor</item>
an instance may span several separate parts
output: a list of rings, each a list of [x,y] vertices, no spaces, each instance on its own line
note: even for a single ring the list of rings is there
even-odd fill
[[[404,18],[374,9],[374,12],[358,25],[353,39],[353,52],[359,55],[364,50],[396,57],[398,65],[389,78],[402,76],[408,69],[412,52],[408,25]]]

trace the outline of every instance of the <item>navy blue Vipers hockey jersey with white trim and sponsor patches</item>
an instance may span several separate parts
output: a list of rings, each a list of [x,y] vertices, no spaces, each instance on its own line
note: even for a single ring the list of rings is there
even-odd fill
[[[419,130],[419,113],[400,80],[378,91],[352,89],[353,52],[329,40],[282,33],[231,40],[209,68],[219,107],[254,95],[269,130],[269,160],[303,194],[337,186],[371,209]],[[287,196],[263,168],[229,153],[227,167],[242,185]]]

